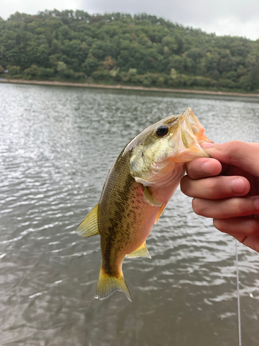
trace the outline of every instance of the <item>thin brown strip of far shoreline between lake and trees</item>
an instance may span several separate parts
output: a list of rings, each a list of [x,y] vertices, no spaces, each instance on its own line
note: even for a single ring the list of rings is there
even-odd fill
[[[50,80],[9,80],[3,78],[0,83],[13,84],[37,84],[37,85],[57,85],[57,86],[81,86],[84,88],[103,88],[103,89],[122,89],[122,90],[144,90],[144,91],[165,91],[169,93],[198,93],[204,95],[227,95],[227,96],[246,96],[259,98],[259,93],[231,93],[228,91],[202,91],[193,89],[169,89],[169,88],[146,88],[144,86],[128,86],[128,85],[106,85],[93,83],[73,83],[73,82],[58,82]]]

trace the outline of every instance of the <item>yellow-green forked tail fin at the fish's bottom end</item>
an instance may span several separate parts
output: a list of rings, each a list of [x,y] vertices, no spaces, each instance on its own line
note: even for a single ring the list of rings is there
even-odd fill
[[[128,291],[123,274],[119,276],[108,274],[101,266],[95,291],[95,298],[104,300],[110,297],[110,295],[112,295],[115,291],[122,291],[125,293],[128,300],[132,302],[131,293]]]

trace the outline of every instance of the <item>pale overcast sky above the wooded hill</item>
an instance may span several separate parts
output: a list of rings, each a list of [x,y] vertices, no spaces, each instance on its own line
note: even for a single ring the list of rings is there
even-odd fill
[[[146,12],[217,35],[259,38],[259,0],[0,0],[0,17],[39,10],[73,9],[90,14]]]

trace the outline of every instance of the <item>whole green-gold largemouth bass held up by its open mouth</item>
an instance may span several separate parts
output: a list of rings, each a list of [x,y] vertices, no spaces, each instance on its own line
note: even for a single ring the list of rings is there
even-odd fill
[[[202,141],[213,143],[187,108],[144,129],[119,154],[99,203],[76,230],[81,237],[101,237],[102,265],[95,298],[123,291],[132,301],[122,273],[124,257],[151,258],[146,238],[178,187],[185,163],[209,157],[200,147]]]

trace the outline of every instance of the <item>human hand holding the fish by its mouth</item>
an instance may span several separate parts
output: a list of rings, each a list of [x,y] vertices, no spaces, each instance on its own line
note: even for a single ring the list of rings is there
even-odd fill
[[[259,252],[259,143],[234,140],[202,145],[211,158],[186,165],[181,190],[196,214]]]

